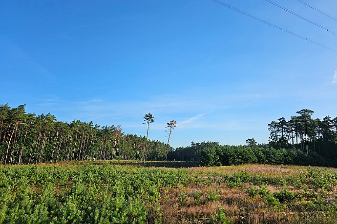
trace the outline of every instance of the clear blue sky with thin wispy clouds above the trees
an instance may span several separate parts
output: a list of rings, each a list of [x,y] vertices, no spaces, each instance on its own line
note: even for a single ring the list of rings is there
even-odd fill
[[[337,36],[265,0],[223,0],[337,48]],[[337,32],[297,0],[276,3]],[[305,0],[337,17],[336,0]],[[212,0],[0,0],[0,104],[58,120],[121,125],[167,141],[268,142],[301,109],[337,116],[337,53]]]

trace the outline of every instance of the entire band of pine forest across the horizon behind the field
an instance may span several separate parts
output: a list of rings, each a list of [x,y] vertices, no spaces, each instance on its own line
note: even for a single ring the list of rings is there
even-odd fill
[[[169,144],[149,140],[147,136],[124,133],[119,125],[100,127],[80,120],[67,123],[49,113],[26,113],[25,105],[10,108],[4,104],[0,106],[0,163],[167,158],[196,161],[203,166],[259,163],[336,167],[337,117],[313,119],[314,112],[307,109],[296,113],[298,115],[289,121],[281,117],[268,125],[268,144],[257,144],[250,138],[246,145],[240,146],[192,142],[189,147],[173,149]],[[144,123],[147,129],[152,122],[147,119]]]

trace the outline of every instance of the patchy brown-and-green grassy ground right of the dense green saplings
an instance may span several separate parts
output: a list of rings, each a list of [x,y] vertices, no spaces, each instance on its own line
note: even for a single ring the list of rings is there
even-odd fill
[[[337,169],[242,165],[189,170],[194,182],[171,189],[161,200],[168,223],[337,223]]]

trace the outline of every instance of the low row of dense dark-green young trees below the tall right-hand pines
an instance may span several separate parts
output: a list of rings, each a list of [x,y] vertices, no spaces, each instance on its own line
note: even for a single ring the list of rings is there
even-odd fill
[[[197,146],[197,147],[196,147]],[[245,163],[275,164],[275,165],[304,165],[336,167],[337,159],[326,159],[316,152],[308,154],[301,149],[275,149],[268,144],[250,146],[221,146],[218,142],[193,143],[190,147],[177,148],[169,154],[169,159],[190,161],[191,156],[198,151],[201,166],[232,166]],[[188,158],[186,160],[186,158]]]

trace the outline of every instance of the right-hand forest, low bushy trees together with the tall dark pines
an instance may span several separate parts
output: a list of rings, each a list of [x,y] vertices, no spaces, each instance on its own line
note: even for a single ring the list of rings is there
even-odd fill
[[[169,159],[199,161],[204,166],[259,163],[337,167],[337,117],[313,119],[314,112],[307,109],[296,113],[289,121],[281,117],[268,124],[268,144],[257,144],[253,138],[244,146],[192,142],[172,151]]]

